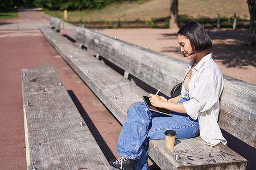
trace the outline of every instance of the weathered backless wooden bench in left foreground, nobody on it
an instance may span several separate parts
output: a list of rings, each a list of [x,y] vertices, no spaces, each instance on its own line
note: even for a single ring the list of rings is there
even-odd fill
[[[112,169],[52,67],[22,70],[27,169]]]

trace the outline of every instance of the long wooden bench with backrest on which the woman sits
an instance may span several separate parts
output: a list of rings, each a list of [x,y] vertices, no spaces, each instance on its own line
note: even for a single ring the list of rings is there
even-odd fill
[[[142,95],[148,95],[137,86],[142,84],[140,81],[168,96],[171,88],[183,80],[187,69],[183,61],[90,29],[77,27],[76,40],[97,53],[96,57],[47,27],[39,29],[121,124],[127,108],[142,101]],[[98,59],[114,63],[113,67],[118,67],[125,76]],[[226,75],[224,79],[219,125],[255,147],[255,86]],[[175,154],[181,159],[175,160]],[[210,147],[200,137],[178,139],[174,148],[167,148],[164,140],[152,140],[148,155],[161,169],[245,169],[247,163],[222,143]]]

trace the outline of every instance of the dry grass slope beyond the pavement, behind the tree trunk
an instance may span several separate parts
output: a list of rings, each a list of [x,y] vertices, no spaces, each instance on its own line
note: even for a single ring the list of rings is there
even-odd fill
[[[68,11],[68,22],[166,20],[170,16],[170,0],[142,0],[113,4],[101,10]],[[237,18],[249,19],[246,0],[179,0],[179,20]],[[199,10],[200,9],[200,10]],[[63,19],[63,11],[46,11]]]

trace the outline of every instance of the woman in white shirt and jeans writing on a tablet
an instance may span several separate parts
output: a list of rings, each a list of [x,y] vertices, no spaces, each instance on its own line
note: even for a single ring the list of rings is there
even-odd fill
[[[220,69],[208,52],[212,48],[205,29],[190,22],[179,29],[177,40],[180,52],[191,61],[183,80],[181,95],[173,99],[150,95],[154,107],[166,108],[172,117],[148,111],[146,105],[132,104],[117,143],[122,157],[110,162],[117,169],[149,169],[148,140],[164,139],[164,131],[175,130],[177,139],[188,139],[199,134],[207,145],[215,146],[226,140],[217,124],[220,95],[224,80]]]

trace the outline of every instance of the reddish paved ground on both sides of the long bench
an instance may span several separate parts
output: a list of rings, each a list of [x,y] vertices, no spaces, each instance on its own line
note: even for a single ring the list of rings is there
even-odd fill
[[[0,20],[0,169],[26,169],[21,69],[51,65],[85,119],[108,160],[118,158],[117,140],[122,126],[109,113],[77,74],[38,30],[49,25],[50,16],[23,10],[19,17]],[[102,29],[133,44],[148,46],[168,56],[185,59],[179,53],[175,29]],[[213,40],[212,52],[222,73],[256,84],[255,48],[243,46],[246,30],[208,30]],[[75,27],[65,23],[61,34],[75,37]],[[233,138],[224,132],[228,141]],[[249,160],[247,169],[256,167],[255,149],[242,142],[229,142],[233,150]],[[151,169],[158,169],[150,162]]]

